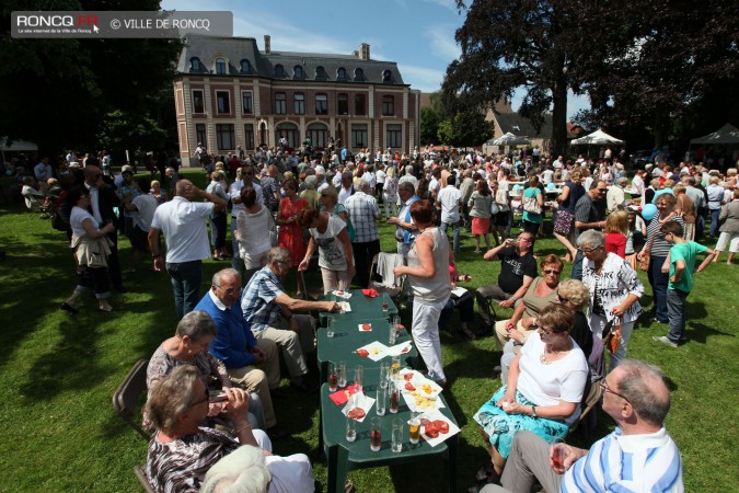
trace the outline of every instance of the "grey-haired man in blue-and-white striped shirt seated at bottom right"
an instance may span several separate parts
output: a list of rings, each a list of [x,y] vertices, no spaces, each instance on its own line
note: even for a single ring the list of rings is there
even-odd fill
[[[684,491],[680,450],[665,428],[670,391],[659,368],[625,359],[600,383],[603,411],[615,422],[613,433],[590,450],[564,443],[550,445],[519,432],[501,484],[484,493],[528,493],[534,481],[556,492]]]

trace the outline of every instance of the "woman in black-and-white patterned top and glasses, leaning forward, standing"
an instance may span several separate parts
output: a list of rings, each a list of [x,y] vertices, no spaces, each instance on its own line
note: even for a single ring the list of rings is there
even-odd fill
[[[577,245],[585,255],[582,263],[582,283],[590,289],[590,309],[588,323],[597,336],[604,339],[607,325],[621,325],[615,353],[611,354],[611,370],[626,358],[628,340],[634,322],[642,312],[638,299],[644,295],[644,286],[632,266],[616,255],[608,253],[603,245],[602,232],[589,229],[577,239]]]

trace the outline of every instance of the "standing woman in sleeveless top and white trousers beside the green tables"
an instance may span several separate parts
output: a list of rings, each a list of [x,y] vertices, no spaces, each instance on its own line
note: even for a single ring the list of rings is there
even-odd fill
[[[435,226],[430,202],[414,202],[411,217],[418,228],[418,236],[408,252],[408,265],[397,266],[393,273],[396,277],[408,276],[414,294],[411,331],[428,368],[428,377],[443,386],[447,379],[441,363],[439,316],[451,294],[447,266],[454,264],[454,253],[447,236]]]

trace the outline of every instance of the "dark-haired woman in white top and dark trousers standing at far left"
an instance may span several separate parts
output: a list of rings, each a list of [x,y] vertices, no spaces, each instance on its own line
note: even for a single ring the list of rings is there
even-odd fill
[[[84,187],[70,190],[65,197],[66,204],[71,207],[69,225],[72,230],[71,248],[77,257],[78,283],[72,296],[61,303],[60,310],[78,313],[77,300],[82,293],[93,290],[97,298],[101,311],[113,311],[107,302],[111,296],[107,277],[107,255],[111,253],[111,240],[106,234],[115,231],[113,223],[103,228],[88,210],[90,208],[90,192]]]

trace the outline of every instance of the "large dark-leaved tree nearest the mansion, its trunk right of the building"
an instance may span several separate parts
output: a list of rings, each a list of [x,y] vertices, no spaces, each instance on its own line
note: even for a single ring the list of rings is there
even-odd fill
[[[552,113],[552,152],[567,144],[567,90],[580,93],[571,66],[591,37],[579,22],[581,0],[474,0],[457,31],[460,59],[447,69],[447,106],[462,107],[512,98],[524,91],[519,112],[538,129]],[[465,9],[462,0],[458,7]]]

